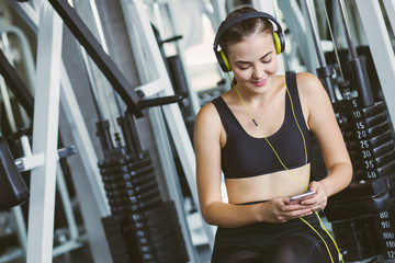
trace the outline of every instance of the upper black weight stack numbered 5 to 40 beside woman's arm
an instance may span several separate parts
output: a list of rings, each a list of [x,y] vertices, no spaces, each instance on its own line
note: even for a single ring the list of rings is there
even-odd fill
[[[377,102],[358,107],[357,101],[351,100],[348,107],[350,111],[338,114],[354,170],[353,180],[361,182],[388,175],[395,171],[395,145],[385,104]]]

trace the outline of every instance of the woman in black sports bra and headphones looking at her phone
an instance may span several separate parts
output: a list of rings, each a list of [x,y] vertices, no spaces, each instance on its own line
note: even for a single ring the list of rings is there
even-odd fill
[[[314,214],[352,176],[331,103],[315,76],[289,75],[284,81],[276,75],[278,22],[259,13],[238,20],[246,13],[257,11],[229,13],[217,35],[218,59],[234,72],[233,88],[203,106],[195,123],[200,207],[204,220],[218,226],[212,262],[338,262]],[[311,133],[328,171],[318,182],[309,182]],[[222,199],[222,171],[228,203]],[[306,191],[316,194],[290,202]]]

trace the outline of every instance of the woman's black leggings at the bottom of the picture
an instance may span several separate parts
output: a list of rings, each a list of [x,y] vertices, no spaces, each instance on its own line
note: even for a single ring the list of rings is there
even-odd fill
[[[316,226],[316,229],[319,228]],[[303,231],[301,231],[303,230]],[[335,263],[339,256],[334,242],[320,230]],[[270,239],[270,238],[268,238]],[[234,243],[213,251],[212,263],[330,263],[325,243],[306,228],[297,228],[272,240],[268,245]]]

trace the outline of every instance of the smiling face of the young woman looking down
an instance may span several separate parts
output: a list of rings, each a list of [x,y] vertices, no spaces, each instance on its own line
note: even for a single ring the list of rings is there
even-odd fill
[[[228,57],[238,87],[252,93],[264,93],[270,88],[278,71],[271,34],[256,34],[230,45]]]

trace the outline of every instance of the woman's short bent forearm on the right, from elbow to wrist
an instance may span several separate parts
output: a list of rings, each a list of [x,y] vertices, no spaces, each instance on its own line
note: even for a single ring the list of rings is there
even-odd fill
[[[346,188],[352,179],[352,165],[349,162],[334,164],[328,170],[328,175],[320,181],[327,196],[337,194]]]

